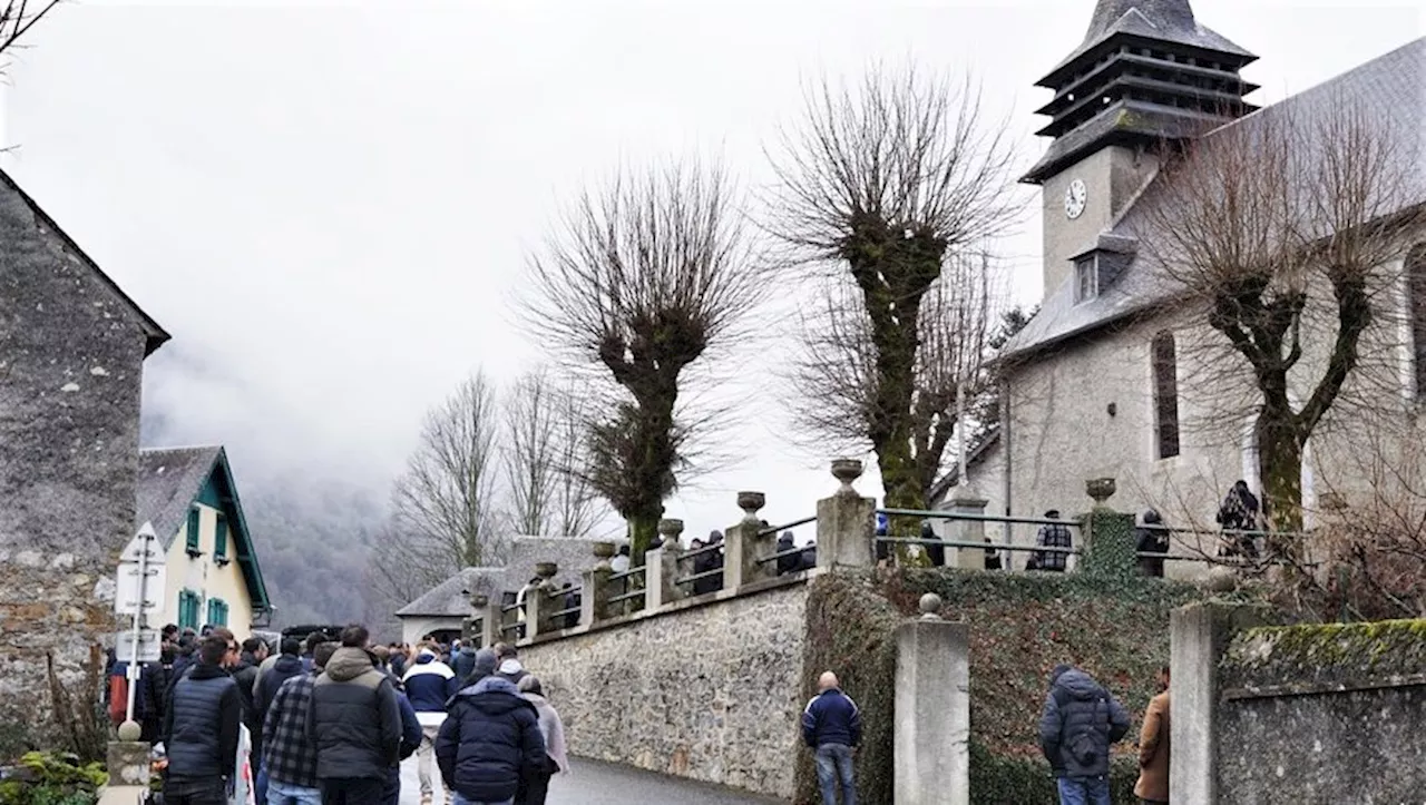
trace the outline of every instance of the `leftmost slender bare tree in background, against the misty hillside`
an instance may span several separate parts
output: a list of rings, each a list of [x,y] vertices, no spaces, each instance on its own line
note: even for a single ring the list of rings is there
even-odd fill
[[[439,568],[439,578],[503,554],[499,432],[495,386],[476,372],[426,413],[421,443],[396,479],[395,529],[412,560]]]

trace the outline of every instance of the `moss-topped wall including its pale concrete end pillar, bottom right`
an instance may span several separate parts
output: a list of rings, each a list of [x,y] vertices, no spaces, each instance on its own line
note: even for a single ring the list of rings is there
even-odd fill
[[[1174,613],[1176,802],[1420,802],[1426,620],[1253,625]]]

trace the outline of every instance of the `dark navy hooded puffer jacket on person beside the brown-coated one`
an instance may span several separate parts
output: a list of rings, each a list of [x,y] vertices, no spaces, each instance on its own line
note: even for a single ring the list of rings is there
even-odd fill
[[[1040,749],[1055,777],[1109,774],[1109,744],[1129,731],[1129,714],[1094,677],[1070,668],[1054,678],[1040,717]]]

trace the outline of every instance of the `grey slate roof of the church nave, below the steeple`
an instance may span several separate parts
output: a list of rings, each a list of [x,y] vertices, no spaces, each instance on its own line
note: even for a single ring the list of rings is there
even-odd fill
[[[1426,37],[1417,38],[1397,50],[1368,61],[1323,84],[1285,98],[1271,107],[1258,110],[1243,118],[1215,128],[1205,137],[1212,138],[1233,127],[1262,125],[1279,117],[1289,117],[1293,125],[1312,131],[1316,121],[1325,120],[1339,107],[1342,98],[1362,104],[1363,113],[1395,137],[1402,138],[1406,152],[1417,155],[1415,171],[1409,181],[1409,197],[1426,202],[1426,168],[1420,168],[1420,155],[1426,155]],[[1145,232],[1145,214],[1158,192],[1162,191],[1155,177],[1138,199],[1124,211],[1108,232],[1101,232],[1094,242],[1085,242],[1082,251],[1104,239],[1112,239],[1121,246],[1138,241]],[[1179,288],[1148,259],[1137,258],[1119,274],[1108,288],[1081,303],[1074,299],[1074,276],[1068,276],[1058,288],[1050,289],[1040,312],[1001,350],[1001,359],[1025,356],[1065,339],[1084,335],[1138,312],[1147,312],[1171,301]]]

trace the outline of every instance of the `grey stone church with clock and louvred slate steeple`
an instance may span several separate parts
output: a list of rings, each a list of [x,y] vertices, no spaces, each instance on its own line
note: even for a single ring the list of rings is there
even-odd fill
[[[1222,389],[1215,383],[1245,383],[1251,402],[1253,380],[1228,370],[1215,378],[1219,368],[1195,350],[1224,336],[1208,326],[1202,302],[1185,302],[1151,265],[1145,241],[1164,218],[1147,218],[1142,201],[1174,180],[1161,162],[1175,144],[1263,121],[1313,131],[1339,98],[1359,103],[1426,155],[1426,38],[1266,108],[1245,100],[1256,85],[1241,71],[1255,60],[1205,27],[1189,0],[1099,0],[1084,41],[1037,84],[1052,93],[1037,111],[1048,118],[1037,134],[1050,142],[1022,181],[1041,188],[1044,296],[998,356],[1001,430],[970,472],[987,511],[1071,516],[1091,506],[1088,479],[1112,477],[1109,506],[1152,507],[1171,526],[1202,527],[1204,537],[1186,536],[1174,550],[1212,550],[1214,516],[1228,487],[1242,479],[1261,490],[1252,405],[1235,415],[1212,405]],[[1416,204],[1426,202],[1420,165]],[[1416,242],[1426,244],[1426,234]],[[1389,268],[1423,258],[1426,249],[1407,245]],[[1415,308],[1405,281],[1402,299],[1406,318]],[[1395,399],[1385,396],[1400,403],[1415,429],[1417,350],[1409,335],[1402,341],[1392,348],[1402,385]],[[1325,443],[1326,433],[1306,445],[1309,526],[1328,489],[1336,500],[1365,483],[1340,477],[1352,470],[1332,456],[1348,446]],[[1014,527],[1010,539],[1032,543],[1034,531]],[[1021,554],[1015,567],[1022,563]]]

